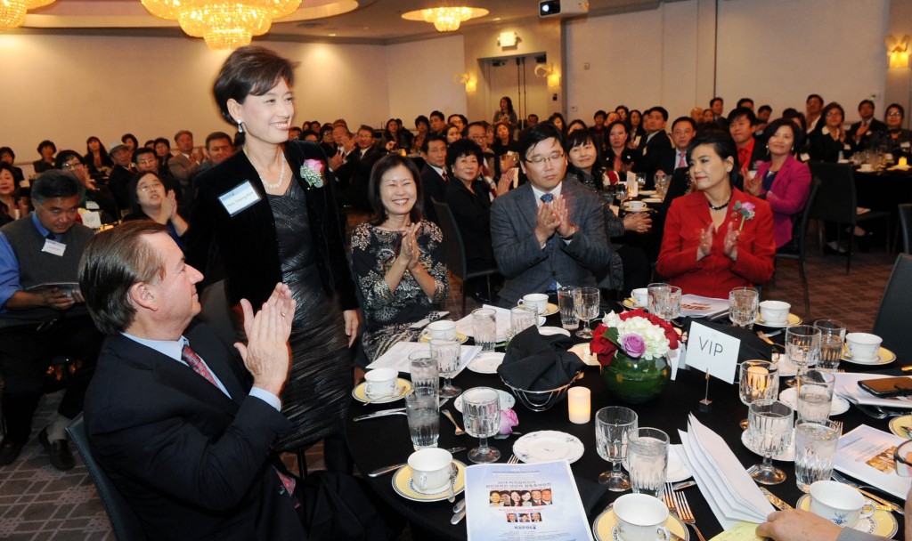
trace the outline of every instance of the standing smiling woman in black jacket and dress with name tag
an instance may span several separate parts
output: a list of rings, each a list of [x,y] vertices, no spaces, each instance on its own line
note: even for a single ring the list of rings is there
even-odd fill
[[[326,467],[345,471],[358,301],[326,155],[316,143],[288,140],[293,83],[291,62],[263,47],[238,48],[225,61],[213,94],[222,117],[244,133],[244,147],[199,176],[187,259],[205,271],[217,253],[230,306],[242,298],[257,306],[276,281],[291,289],[293,360],[280,398],[292,429],[275,449],[326,439]]]

